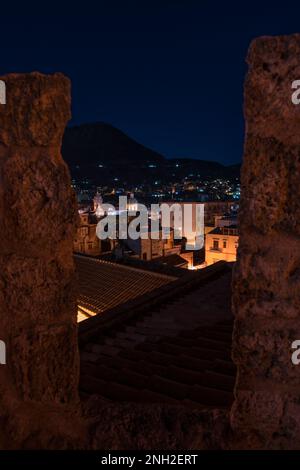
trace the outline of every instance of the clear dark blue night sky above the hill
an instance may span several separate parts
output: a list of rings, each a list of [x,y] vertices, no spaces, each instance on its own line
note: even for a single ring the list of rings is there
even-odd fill
[[[0,74],[62,71],[72,123],[109,122],[167,157],[236,163],[248,45],[300,32],[299,14],[299,2],[262,0],[1,4]]]

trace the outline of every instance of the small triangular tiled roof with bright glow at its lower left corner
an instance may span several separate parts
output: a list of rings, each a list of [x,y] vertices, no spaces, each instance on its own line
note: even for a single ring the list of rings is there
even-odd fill
[[[176,279],[86,256],[74,255],[74,259],[83,317],[102,313]]]

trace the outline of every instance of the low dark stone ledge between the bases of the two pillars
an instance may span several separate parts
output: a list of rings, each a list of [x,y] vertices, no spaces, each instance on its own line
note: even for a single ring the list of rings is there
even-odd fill
[[[111,403],[95,395],[85,404],[84,416],[94,450],[227,449],[231,438],[224,410]]]

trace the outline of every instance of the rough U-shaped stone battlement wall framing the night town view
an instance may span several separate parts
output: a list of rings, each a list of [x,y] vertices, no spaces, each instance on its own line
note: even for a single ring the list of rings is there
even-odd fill
[[[92,403],[80,417],[76,204],[60,155],[69,82],[0,77],[0,448],[150,448],[156,436],[178,449],[300,449],[300,365],[290,349],[300,339],[300,105],[291,101],[300,35],[255,40],[248,63],[230,427],[226,413],[168,407]]]

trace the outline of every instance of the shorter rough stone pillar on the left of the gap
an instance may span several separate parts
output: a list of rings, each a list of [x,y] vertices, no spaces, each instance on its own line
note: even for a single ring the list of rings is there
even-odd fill
[[[59,436],[64,411],[78,406],[77,211],[60,153],[70,82],[40,73],[1,80],[0,339],[7,364],[0,365],[0,447],[51,447],[45,429]]]

